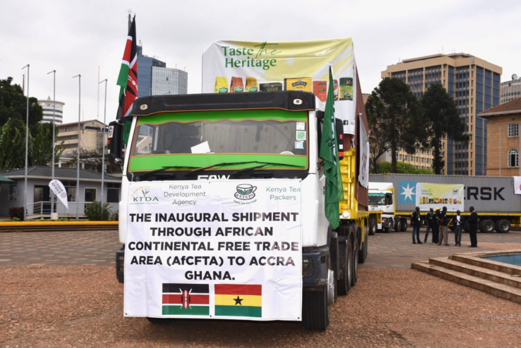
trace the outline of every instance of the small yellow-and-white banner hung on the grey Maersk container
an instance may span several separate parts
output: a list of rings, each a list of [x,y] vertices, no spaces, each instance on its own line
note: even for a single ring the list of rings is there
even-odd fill
[[[464,186],[459,184],[416,184],[416,206],[421,211],[447,207],[447,211],[464,211]]]

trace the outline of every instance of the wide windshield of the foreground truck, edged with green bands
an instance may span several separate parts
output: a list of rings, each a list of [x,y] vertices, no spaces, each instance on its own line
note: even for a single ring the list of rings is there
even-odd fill
[[[131,171],[267,161],[307,167],[306,112],[237,110],[168,113],[138,119]],[[251,164],[237,165],[247,167]]]

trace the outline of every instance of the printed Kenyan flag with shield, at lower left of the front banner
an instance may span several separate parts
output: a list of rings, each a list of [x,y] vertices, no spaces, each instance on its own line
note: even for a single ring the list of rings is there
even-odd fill
[[[163,283],[163,315],[210,315],[208,284]]]

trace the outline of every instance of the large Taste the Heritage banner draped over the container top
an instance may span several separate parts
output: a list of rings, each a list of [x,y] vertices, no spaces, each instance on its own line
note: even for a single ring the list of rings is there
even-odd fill
[[[355,134],[356,64],[351,38],[273,42],[216,41],[203,52],[203,93],[300,90],[326,101],[334,73],[335,116]]]

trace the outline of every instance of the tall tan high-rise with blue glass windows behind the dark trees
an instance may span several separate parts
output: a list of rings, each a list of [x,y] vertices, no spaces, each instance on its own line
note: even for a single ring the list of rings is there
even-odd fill
[[[499,105],[502,73],[503,68],[483,59],[452,53],[405,59],[389,65],[381,77],[401,79],[417,98],[421,98],[433,83],[441,83],[456,102],[470,136],[466,144],[452,139],[442,140],[444,174],[486,175],[487,120],[477,115]],[[402,158],[409,158],[403,151],[400,154]],[[432,155],[429,154],[428,160],[432,160]]]

